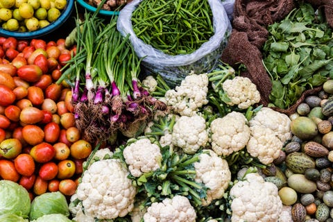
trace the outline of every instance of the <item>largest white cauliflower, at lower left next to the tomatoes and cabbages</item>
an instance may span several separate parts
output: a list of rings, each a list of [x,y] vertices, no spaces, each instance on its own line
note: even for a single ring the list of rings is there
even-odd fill
[[[115,219],[133,210],[136,188],[118,160],[94,162],[76,190],[85,213],[96,219]]]

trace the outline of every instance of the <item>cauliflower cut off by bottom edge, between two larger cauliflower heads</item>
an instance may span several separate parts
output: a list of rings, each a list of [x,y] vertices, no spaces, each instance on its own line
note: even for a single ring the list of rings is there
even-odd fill
[[[185,196],[165,198],[160,203],[152,203],[144,214],[144,222],[195,222],[196,211]]]

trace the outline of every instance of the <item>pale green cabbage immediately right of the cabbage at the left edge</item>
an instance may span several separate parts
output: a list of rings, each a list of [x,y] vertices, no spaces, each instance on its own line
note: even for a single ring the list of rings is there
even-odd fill
[[[69,216],[66,197],[59,191],[47,192],[33,199],[29,219],[33,221],[46,214],[63,214]]]

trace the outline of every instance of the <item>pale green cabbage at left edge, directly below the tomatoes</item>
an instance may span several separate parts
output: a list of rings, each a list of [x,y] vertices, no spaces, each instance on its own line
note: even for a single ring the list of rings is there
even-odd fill
[[[17,214],[28,218],[31,200],[28,191],[17,182],[0,180],[0,215]]]

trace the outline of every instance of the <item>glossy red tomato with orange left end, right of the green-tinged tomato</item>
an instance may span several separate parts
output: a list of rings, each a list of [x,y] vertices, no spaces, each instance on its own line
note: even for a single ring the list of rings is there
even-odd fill
[[[35,162],[49,162],[56,155],[56,150],[49,143],[42,142],[41,144],[37,144],[33,146],[30,151],[30,155],[33,157]]]

